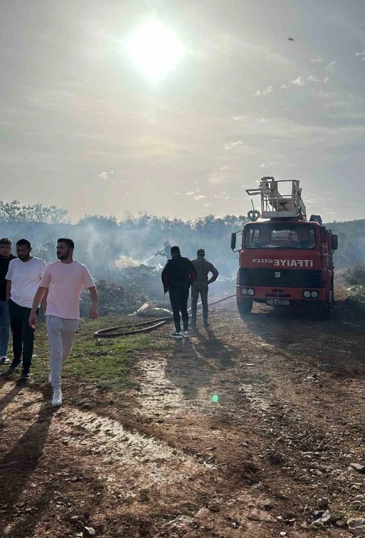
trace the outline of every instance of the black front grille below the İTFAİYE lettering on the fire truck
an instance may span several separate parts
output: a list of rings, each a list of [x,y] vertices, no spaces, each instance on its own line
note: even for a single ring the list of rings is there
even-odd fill
[[[266,267],[240,267],[240,286],[286,288],[322,288],[322,271],[319,269],[276,269]]]

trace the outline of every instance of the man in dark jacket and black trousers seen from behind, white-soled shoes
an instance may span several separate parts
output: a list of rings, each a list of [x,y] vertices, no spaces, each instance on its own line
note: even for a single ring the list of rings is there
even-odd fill
[[[196,271],[191,261],[181,256],[178,246],[171,247],[171,259],[167,260],[161,277],[164,292],[169,292],[170,295],[175,323],[175,332],[172,332],[170,336],[178,340],[188,338],[189,316],[187,313],[187,301],[189,298],[189,288],[196,279]],[[182,331],[180,312],[182,317]]]

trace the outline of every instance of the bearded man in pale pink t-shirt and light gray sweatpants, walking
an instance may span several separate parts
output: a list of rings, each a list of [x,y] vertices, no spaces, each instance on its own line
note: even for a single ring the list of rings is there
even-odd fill
[[[80,317],[79,300],[82,287],[89,289],[92,306],[89,316],[98,317],[98,294],[96,286],[85,265],[74,261],[74,242],[61,238],[57,241],[59,261],[47,265],[39,288],[35,294],[29,318],[31,328],[37,322],[37,305],[48,287],[46,321],[49,342],[50,383],[53,387],[53,406],[62,405],[61,371],[65,359],[70,355]]]

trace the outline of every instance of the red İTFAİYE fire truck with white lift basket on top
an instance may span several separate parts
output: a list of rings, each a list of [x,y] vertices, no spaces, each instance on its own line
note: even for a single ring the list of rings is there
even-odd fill
[[[279,192],[280,191],[280,192]],[[261,213],[249,211],[239,252],[237,307],[242,317],[253,302],[269,306],[311,305],[328,318],[334,304],[333,252],[338,237],[322,225],[319,215],[306,218],[302,189],[297,180],[262,178],[258,188],[247,189],[261,197]],[[288,192],[288,194],[280,194]]]

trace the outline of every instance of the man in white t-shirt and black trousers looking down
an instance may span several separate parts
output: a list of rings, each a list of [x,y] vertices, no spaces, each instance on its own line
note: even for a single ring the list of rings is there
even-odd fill
[[[34,328],[30,327],[28,319],[46,262],[31,256],[32,247],[27,239],[19,239],[16,246],[18,258],[11,260],[5,277],[14,354],[13,362],[5,375],[14,373],[23,362],[20,379],[26,381],[30,378],[34,345]],[[34,310],[36,316],[40,302]]]

